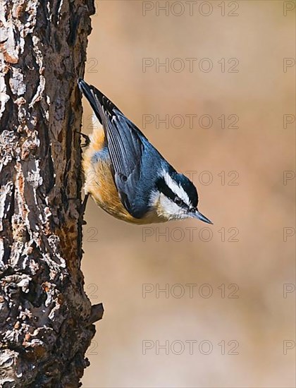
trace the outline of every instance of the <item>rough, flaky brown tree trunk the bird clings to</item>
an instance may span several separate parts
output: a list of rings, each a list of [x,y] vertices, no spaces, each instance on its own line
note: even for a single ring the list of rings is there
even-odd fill
[[[93,0],[0,0],[0,386],[79,387],[81,96]]]

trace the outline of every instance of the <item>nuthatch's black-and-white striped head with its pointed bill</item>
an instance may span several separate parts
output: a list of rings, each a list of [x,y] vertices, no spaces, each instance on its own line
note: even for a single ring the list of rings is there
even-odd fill
[[[187,176],[177,171],[162,171],[156,180],[152,203],[159,216],[167,220],[192,217],[212,224],[197,210],[198,195],[195,185]]]

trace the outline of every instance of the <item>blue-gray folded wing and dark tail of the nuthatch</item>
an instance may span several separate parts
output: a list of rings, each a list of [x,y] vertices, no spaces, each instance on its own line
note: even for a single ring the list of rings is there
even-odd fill
[[[121,202],[132,217],[141,218],[148,210],[149,200],[149,197],[145,201],[137,198],[144,147],[142,140],[147,139],[99,90],[83,80],[79,80],[79,86],[104,128]]]

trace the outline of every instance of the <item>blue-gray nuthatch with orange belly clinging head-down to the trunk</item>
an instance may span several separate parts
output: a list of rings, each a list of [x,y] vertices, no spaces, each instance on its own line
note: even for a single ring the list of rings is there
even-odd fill
[[[197,188],[178,173],[146,136],[96,87],[79,78],[99,126],[82,155],[85,201],[131,224],[195,218],[212,222],[197,210]]]

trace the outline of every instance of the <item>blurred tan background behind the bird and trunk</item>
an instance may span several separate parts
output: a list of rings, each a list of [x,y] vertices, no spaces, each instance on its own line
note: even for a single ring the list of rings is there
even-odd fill
[[[83,387],[295,387],[294,5],[96,1],[85,80],[214,225],[132,226],[90,200],[82,270],[105,315]]]

